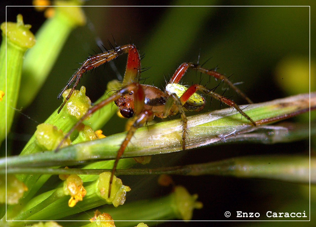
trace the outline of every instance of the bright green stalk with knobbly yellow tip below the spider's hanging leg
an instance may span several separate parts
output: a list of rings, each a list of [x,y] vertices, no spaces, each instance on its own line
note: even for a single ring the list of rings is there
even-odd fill
[[[70,207],[68,205],[67,201],[70,199],[70,196],[65,194],[64,185],[62,188],[57,188],[34,197],[23,207],[20,214],[13,217],[13,219],[21,221],[40,219],[56,220],[104,204],[111,204],[111,206],[114,205],[115,207],[122,205],[125,202],[126,192],[131,189],[124,186],[122,181],[115,177],[112,183],[111,196],[107,198],[107,193],[103,193],[103,191],[109,187],[110,175],[109,172],[102,173],[96,181],[85,183],[84,188],[87,194],[85,194],[83,200],[79,201],[75,206]],[[64,184],[65,183],[67,182],[64,182]],[[56,210],[56,207],[58,207],[58,210]],[[10,213],[14,214],[14,211]],[[20,225],[19,223],[12,224],[12,226]]]

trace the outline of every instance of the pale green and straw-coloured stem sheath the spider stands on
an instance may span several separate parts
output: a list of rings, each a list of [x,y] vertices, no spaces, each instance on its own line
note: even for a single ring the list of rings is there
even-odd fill
[[[310,101],[309,101],[310,100]],[[299,94],[284,99],[253,104],[245,112],[259,124],[267,124],[295,116],[316,108],[316,93]],[[232,109],[212,111],[188,117],[186,148],[225,143],[229,137],[254,131],[246,119]],[[181,120],[170,120],[139,128],[125,150],[123,157],[135,157],[181,151]],[[8,167],[54,166],[82,163],[89,159],[113,159],[126,133],[119,133],[100,140],[92,140],[62,148],[57,153],[42,152],[34,155],[8,157]],[[240,141],[240,136],[238,138]],[[231,141],[232,142],[232,141]],[[5,168],[5,159],[0,159]]]

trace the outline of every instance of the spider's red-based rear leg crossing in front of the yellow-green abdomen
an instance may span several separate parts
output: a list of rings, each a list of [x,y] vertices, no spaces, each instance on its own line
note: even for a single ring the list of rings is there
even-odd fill
[[[193,84],[191,85],[184,93],[183,95],[181,95],[180,97],[180,101],[182,104],[185,104],[185,102],[191,97],[192,94],[194,94],[197,90],[211,95],[212,97],[214,97],[215,99],[220,100],[221,102],[225,103],[226,105],[232,106],[234,107],[238,112],[240,112],[240,114],[244,117],[246,117],[254,126],[256,126],[256,122],[253,121],[243,110],[240,109],[240,107],[234,103],[234,101],[220,95],[217,94],[215,92],[213,92],[212,90],[208,89],[207,87],[204,87],[202,85],[199,84]]]

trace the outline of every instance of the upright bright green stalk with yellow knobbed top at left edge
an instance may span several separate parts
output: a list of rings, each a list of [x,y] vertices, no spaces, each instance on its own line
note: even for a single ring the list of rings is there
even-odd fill
[[[29,31],[30,28],[31,25],[24,25],[21,14],[17,16],[17,23],[3,22],[1,24],[0,143],[10,131],[16,110],[23,55],[28,48],[35,44],[35,38]]]

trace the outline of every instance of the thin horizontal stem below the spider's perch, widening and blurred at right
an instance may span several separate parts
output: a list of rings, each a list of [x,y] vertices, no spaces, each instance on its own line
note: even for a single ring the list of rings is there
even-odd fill
[[[309,168],[310,164],[310,168]],[[111,165],[112,166],[112,165]],[[235,176],[242,178],[267,178],[290,182],[309,182],[309,170],[311,171],[311,183],[316,183],[316,159],[306,156],[266,156],[256,155],[240,158],[230,158],[226,160],[190,164],[185,166],[162,167],[156,169],[117,169],[116,176],[119,175],[220,175]],[[94,175],[111,169],[52,169],[52,168],[16,168],[7,170],[7,173],[27,172],[29,174],[49,173],[49,174],[79,174]],[[93,180],[92,178],[91,180]]]

